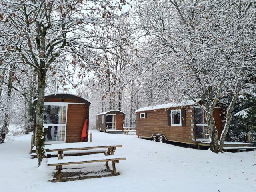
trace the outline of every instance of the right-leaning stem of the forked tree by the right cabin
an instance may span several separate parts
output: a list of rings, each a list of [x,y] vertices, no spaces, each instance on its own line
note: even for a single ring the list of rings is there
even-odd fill
[[[224,126],[224,129],[222,130],[222,133],[221,133],[221,136],[220,136],[219,152],[222,152],[222,150],[223,150],[226,135],[228,133],[228,128],[230,126],[230,122],[231,122],[231,119],[232,119],[232,111],[233,111],[234,106],[236,104],[236,101],[238,99],[238,94],[239,94],[238,91],[236,92],[236,94],[234,94],[234,96],[233,96],[233,98],[230,102],[230,105],[228,107],[228,110],[227,110],[225,126]]]

